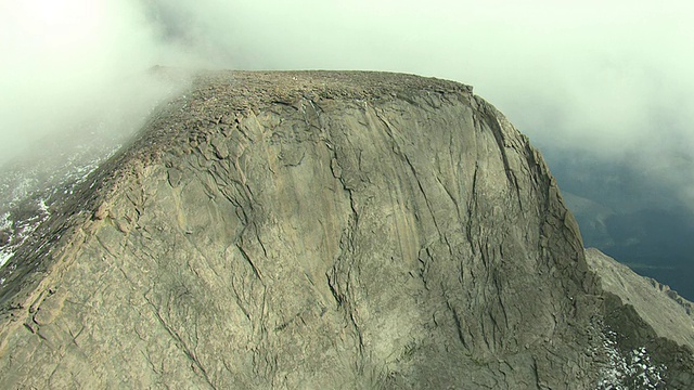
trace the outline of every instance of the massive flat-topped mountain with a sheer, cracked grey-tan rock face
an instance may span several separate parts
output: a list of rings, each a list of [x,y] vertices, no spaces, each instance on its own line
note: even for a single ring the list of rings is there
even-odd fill
[[[51,199],[0,269],[4,388],[694,386],[468,86],[197,73]]]

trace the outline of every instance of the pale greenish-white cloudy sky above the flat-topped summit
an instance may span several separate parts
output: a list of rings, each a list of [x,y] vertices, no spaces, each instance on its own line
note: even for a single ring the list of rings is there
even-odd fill
[[[684,0],[0,0],[0,153],[132,100],[113,91],[160,64],[453,79],[543,147],[668,165],[694,155],[693,15]]]

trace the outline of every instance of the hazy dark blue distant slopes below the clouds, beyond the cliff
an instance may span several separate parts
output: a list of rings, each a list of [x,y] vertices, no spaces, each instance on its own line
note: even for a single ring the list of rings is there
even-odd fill
[[[638,154],[611,159],[551,147],[543,156],[587,246],[694,299],[691,158],[661,153],[659,164],[645,165]]]

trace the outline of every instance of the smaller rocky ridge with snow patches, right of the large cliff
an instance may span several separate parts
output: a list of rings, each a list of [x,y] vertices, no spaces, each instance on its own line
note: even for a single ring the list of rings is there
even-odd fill
[[[586,258],[603,288],[604,325],[615,347],[611,365],[621,374],[614,382],[626,389],[691,389],[692,303],[597,249],[587,249]],[[648,386],[644,386],[644,378]]]

